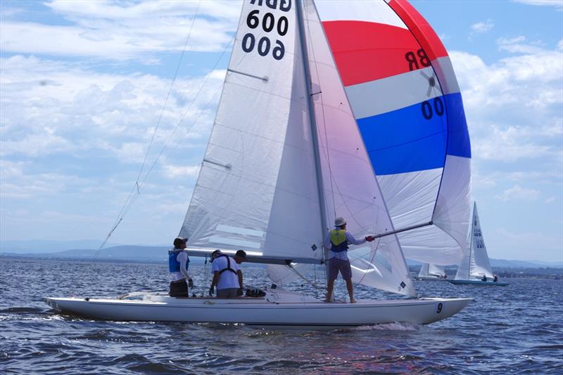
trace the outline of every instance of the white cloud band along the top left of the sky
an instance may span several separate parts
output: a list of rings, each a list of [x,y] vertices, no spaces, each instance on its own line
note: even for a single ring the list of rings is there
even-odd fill
[[[0,49],[13,53],[146,59],[152,54],[222,51],[232,39],[240,1],[52,1],[46,3],[72,25],[47,25],[4,19]],[[9,8],[8,8],[9,9]],[[4,12],[4,8],[3,8]],[[15,13],[17,14],[17,13]]]

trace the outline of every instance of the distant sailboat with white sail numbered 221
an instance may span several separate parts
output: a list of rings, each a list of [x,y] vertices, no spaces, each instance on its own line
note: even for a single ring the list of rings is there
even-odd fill
[[[465,254],[464,259],[457,268],[455,280],[448,281],[453,284],[508,285],[508,283],[495,281],[497,276],[493,275],[491,263],[488,261],[487,248],[483,239],[483,233],[481,232],[476,202],[473,205],[473,221],[468,242],[469,251]]]

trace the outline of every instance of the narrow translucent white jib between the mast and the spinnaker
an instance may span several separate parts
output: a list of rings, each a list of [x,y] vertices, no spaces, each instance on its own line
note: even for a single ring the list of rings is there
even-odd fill
[[[356,238],[393,230],[339,71],[312,1],[305,1],[305,36],[319,137],[327,223],[337,216]],[[329,230],[331,228],[327,228]],[[348,257],[353,281],[416,295],[395,235],[358,247]]]

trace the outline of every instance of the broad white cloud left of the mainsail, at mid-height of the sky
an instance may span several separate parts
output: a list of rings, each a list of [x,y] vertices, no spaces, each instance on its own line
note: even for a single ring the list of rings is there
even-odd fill
[[[3,157],[99,150],[124,161],[139,161],[170,90],[170,80],[155,75],[96,73],[33,56],[0,59],[0,67]],[[162,149],[178,124],[175,142],[189,129],[188,140],[203,142],[201,134],[207,134],[213,122],[213,105],[203,109],[216,102],[223,78],[224,70],[211,72],[207,80],[177,78],[154,150]],[[196,119],[201,125],[191,128]]]

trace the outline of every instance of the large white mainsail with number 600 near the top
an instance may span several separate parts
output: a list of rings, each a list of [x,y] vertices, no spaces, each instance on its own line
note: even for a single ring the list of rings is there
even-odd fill
[[[322,246],[322,225],[295,4],[253,2],[243,4],[180,235],[194,248],[320,258],[311,249]]]

